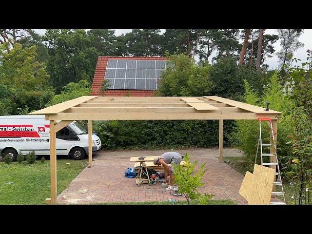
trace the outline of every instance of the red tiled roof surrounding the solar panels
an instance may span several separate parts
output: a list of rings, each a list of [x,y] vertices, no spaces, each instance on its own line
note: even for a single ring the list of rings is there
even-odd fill
[[[128,59],[128,60],[169,60],[165,57],[114,57],[99,56],[96,71],[92,82],[90,95],[101,96],[99,88],[103,83],[108,59]],[[125,96],[130,93],[133,97],[152,97],[155,90],[134,90],[134,89],[109,89],[105,92],[106,96]]]

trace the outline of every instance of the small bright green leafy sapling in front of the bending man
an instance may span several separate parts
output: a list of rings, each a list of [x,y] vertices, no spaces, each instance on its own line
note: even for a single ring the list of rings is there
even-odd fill
[[[185,196],[187,204],[190,204],[190,200],[195,200],[201,196],[198,188],[203,185],[201,180],[206,172],[204,169],[206,163],[201,164],[198,172],[195,173],[197,161],[191,164],[189,154],[185,154],[184,160],[185,166],[174,165],[175,183],[178,185],[179,192]]]

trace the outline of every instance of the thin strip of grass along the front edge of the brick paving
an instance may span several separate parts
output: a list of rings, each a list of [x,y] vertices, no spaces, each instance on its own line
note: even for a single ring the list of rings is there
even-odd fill
[[[110,203],[104,202],[99,203],[101,205],[187,205],[187,201],[177,201],[177,202],[168,202],[168,201],[145,201],[145,202],[117,202]],[[198,205],[197,202],[190,202],[190,205]],[[210,200],[209,205],[236,205],[232,200]]]

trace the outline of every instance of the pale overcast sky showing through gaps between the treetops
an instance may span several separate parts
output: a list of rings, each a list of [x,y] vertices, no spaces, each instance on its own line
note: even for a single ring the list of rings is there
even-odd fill
[[[119,36],[123,33],[128,33],[131,32],[132,29],[116,29],[115,30],[115,35]],[[44,34],[45,29],[35,29],[36,32],[39,34]],[[161,33],[164,33],[165,29],[161,29]],[[277,35],[277,30],[276,29],[266,29],[264,34],[276,34]],[[304,43],[304,47],[298,49],[293,53],[293,57],[297,59],[301,59],[302,61],[306,60],[307,57],[307,50],[310,49],[312,50],[312,29],[305,29],[304,33],[300,36],[299,41]],[[272,58],[266,58],[264,63],[269,64],[270,68],[269,69],[275,69],[278,67],[278,58],[276,55],[276,52],[280,51],[280,40],[277,40],[273,46],[275,49],[275,53],[273,54]],[[210,56],[209,60],[211,62],[211,59],[215,56],[215,53],[212,53]]]

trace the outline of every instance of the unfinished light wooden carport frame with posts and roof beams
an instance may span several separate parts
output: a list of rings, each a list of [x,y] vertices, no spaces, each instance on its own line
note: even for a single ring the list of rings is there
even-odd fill
[[[84,96],[53,105],[31,115],[45,115],[50,120],[51,198],[57,202],[56,133],[74,120],[88,120],[89,161],[92,166],[92,120],[219,120],[219,162],[222,163],[223,120],[272,119],[277,139],[277,118],[281,113],[216,96],[203,97],[97,97]],[[274,161],[274,159],[270,159]]]

